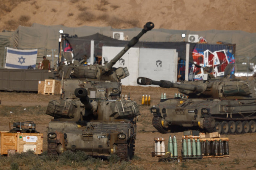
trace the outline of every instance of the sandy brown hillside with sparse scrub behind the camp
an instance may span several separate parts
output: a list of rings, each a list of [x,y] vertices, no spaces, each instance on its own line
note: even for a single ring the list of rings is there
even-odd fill
[[[256,32],[254,0],[0,0],[0,30],[32,23]]]

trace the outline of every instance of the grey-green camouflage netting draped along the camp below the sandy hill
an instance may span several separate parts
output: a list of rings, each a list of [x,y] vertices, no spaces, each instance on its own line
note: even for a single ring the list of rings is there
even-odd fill
[[[49,60],[56,61],[58,55],[58,38],[59,30],[64,30],[64,33],[70,35],[78,35],[85,37],[92,34],[103,34],[107,37],[112,37],[113,32],[123,32],[124,36],[128,35],[130,40],[134,35],[137,35],[141,28],[132,29],[112,29],[111,27],[65,27],[65,26],[44,26],[41,24],[33,24],[32,27],[19,26],[15,32],[0,33],[0,67],[4,66],[5,47],[18,49],[38,49],[37,64],[42,60],[43,56],[50,55]],[[206,30],[206,31],[190,31],[190,30],[167,30],[154,29],[150,34],[141,37],[141,42],[183,42],[181,34],[185,33],[185,41],[188,41],[189,34],[198,34],[199,37],[204,37],[208,43],[215,44],[216,42],[225,42],[236,44],[235,52],[235,71],[246,72],[247,65],[243,62],[256,63],[256,33],[248,33],[244,31],[234,30]],[[115,40],[113,40],[115,43]],[[143,44],[143,43],[142,43]],[[164,44],[164,43],[162,43]],[[171,44],[167,44],[168,46]],[[151,45],[154,47],[154,43]],[[161,46],[160,44],[158,46]],[[143,46],[142,46],[143,47]],[[159,47],[158,47],[159,48]],[[175,48],[173,46],[169,48]],[[183,56],[183,54],[179,54]]]

